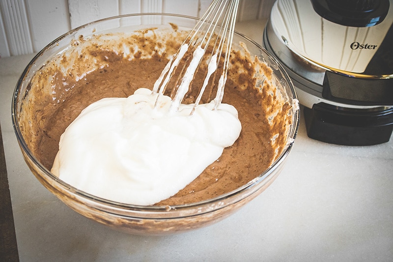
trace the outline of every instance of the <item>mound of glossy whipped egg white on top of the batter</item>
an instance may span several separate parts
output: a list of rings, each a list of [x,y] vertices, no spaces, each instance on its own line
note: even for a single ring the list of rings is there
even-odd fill
[[[60,137],[51,172],[91,195],[150,205],[193,181],[233,145],[241,131],[237,110],[221,103],[180,104],[140,88],[127,98],[86,107]],[[168,113],[169,112],[169,113]]]

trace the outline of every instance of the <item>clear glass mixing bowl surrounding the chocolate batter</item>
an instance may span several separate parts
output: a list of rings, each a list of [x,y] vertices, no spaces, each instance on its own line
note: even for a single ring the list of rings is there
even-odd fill
[[[51,174],[50,170],[40,163],[31,150],[31,142],[26,138],[26,134],[31,133],[31,130],[29,130],[28,125],[21,126],[20,124],[21,113],[30,106],[29,103],[33,103],[29,96],[31,91],[30,81],[36,74],[42,73],[40,69],[52,58],[77,46],[81,35],[88,37],[104,32],[132,32],[135,29],[151,27],[173,27],[173,24],[181,28],[191,29],[196,22],[197,18],[173,14],[133,14],[99,20],[60,36],[40,51],[27,65],[17,83],[12,101],[12,121],[17,140],[31,172],[49,191],[76,212],[127,233],[165,234],[183,232],[224,219],[258,196],[279,175],[298,130],[299,107],[296,93],[288,75],[279,62],[253,40],[236,32],[233,37],[233,48],[236,48],[236,45],[239,46],[239,42],[243,42],[252,56],[256,56],[260,61],[266,63],[273,71],[272,81],[274,85],[282,94],[283,99],[291,105],[287,116],[290,124],[285,127],[285,134],[281,134],[284,137],[284,145],[277,152],[274,162],[267,170],[261,170],[260,175],[243,186],[224,195],[193,204],[173,206],[121,204],[86,194],[63,182]],[[42,90],[44,89],[42,88]],[[42,132],[45,132],[45,130],[42,130]]]

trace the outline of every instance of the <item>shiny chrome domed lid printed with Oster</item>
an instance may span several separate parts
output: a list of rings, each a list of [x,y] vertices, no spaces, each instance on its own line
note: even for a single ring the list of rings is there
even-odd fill
[[[376,26],[348,27],[322,18],[310,1],[279,0],[273,6],[270,22],[285,46],[281,48],[290,49],[300,59],[356,77],[387,78],[393,77],[393,63],[386,63],[386,56],[393,54],[391,46],[384,47],[384,40],[392,41],[393,37],[392,6],[385,20]],[[385,66],[370,65],[384,61]]]

